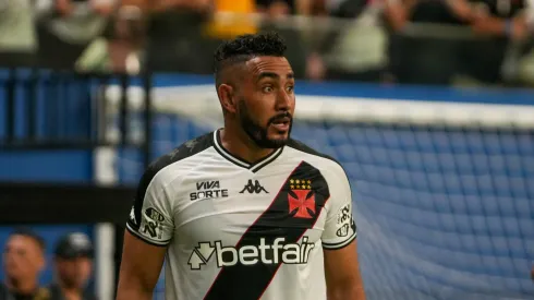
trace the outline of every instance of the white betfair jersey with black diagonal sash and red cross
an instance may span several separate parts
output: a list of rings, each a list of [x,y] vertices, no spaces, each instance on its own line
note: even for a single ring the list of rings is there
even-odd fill
[[[167,299],[321,300],[323,249],[356,237],[351,203],[333,159],[290,140],[251,165],[215,131],[150,165],[126,227],[168,247]]]

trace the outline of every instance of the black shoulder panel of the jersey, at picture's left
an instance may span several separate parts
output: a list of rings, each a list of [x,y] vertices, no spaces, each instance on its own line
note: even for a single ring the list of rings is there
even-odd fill
[[[178,163],[186,158],[198,155],[203,151],[213,146],[213,132],[190,140],[175,147],[170,153],[158,157],[145,170],[141,180],[141,185],[148,185],[153,179],[171,165],[179,166]],[[169,168],[167,168],[169,169]]]

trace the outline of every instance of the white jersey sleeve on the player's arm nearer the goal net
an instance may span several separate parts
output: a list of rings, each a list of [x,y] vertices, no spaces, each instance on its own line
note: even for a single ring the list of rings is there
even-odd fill
[[[339,167],[339,176],[333,176],[330,187],[330,207],[327,211],[323,248],[336,250],[344,248],[356,238],[356,224],[353,217],[351,185],[347,175]]]

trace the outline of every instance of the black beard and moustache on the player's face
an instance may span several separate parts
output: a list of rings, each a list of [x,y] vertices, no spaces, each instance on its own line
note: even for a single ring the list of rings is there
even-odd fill
[[[240,100],[239,104],[239,118],[241,122],[241,127],[243,130],[246,132],[248,137],[260,148],[280,148],[284,146],[288,143],[289,136],[291,135],[291,129],[293,127],[293,118],[289,112],[283,112],[280,115],[277,115],[272,118],[269,119],[267,122],[266,127],[262,127],[257,122],[255,122],[251,115],[248,113],[248,108],[246,107],[246,104],[244,99]],[[288,131],[288,139],[269,139],[267,136],[267,130],[269,125],[275,122],[278,119],[281,118],[289,118],[290,123],[289,123],[289,131]]]

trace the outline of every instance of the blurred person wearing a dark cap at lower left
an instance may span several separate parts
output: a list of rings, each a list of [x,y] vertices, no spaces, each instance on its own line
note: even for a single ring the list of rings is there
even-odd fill
[[[56,245],[53,268],[56,281],[49,287],[51,300],[94,300],[87,290],[93,272],[93,244],[80,232],[62,237]]]

